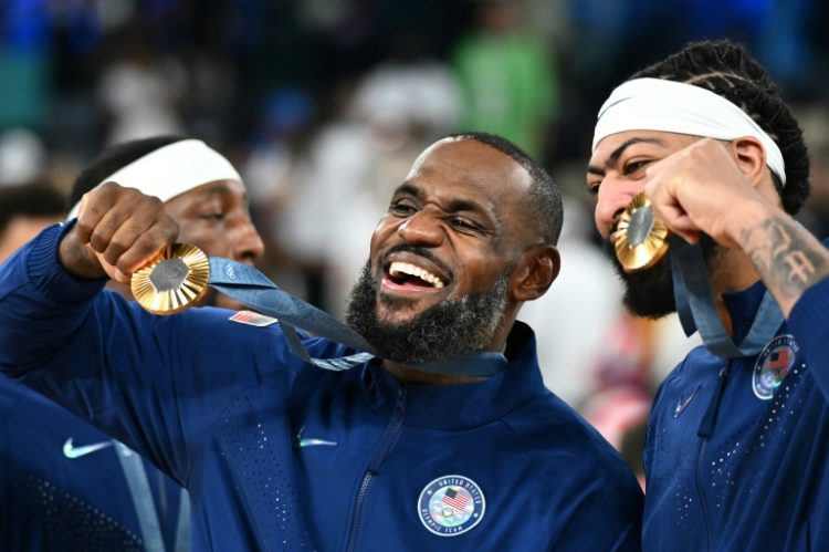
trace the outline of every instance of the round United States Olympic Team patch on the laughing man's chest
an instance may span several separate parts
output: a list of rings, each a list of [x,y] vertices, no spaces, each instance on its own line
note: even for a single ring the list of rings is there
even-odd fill
[[[483,519],[486,500],[468,477],[443,476],[420,491],[418,513],[423,527],[440,537],[471,531]]]

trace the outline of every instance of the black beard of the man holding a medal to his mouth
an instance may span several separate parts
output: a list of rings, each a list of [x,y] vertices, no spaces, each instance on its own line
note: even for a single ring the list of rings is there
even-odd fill
[[[720,252],[720,246],[705,235],[700,237],[700,246],[702,247],[705,268],[709,274],[711,274],[713,273],[715,259]],[[655,320],[676,312],[676,302],[673,298],[670,251],[650,269],[628,273],[625,272],[619,259],[616,257],[613,244],[605,241],[605,250],[612,260],[616,274],[625,285],[622,302],[631,314]]]

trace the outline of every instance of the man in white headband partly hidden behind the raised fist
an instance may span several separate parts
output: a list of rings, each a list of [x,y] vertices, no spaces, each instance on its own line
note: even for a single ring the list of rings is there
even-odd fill
[[[200,140],[113,146],[76,178],[70,218],[84,194],[113,180],[165,201],[181,236],[211,254],[243,262],[262,254],[242,179]],[[130,296],[128,287],[118,291]],[[91,346],[84,355],[97,353]],[[0,550],[190,550],[187,492],[147,460],[4,376],[0,420]]]

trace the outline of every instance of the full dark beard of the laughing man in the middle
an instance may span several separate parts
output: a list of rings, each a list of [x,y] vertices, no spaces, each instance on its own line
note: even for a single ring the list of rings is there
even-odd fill
[[[351,290],[346,322],[384,358],[401,364],[451,358],[484,348],[495,335],[506,308],[508,274],[486,291],[442,301],[412,320],[391,323],[377,316],[377,284],[370,263]],[[393,305],[408,301],[386,298]]]

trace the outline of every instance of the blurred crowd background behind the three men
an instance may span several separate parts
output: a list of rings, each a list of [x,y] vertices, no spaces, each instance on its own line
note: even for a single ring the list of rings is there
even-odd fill
[[[66,192],[109,144],[207,140],[240,169],[281,285],[342,314],[389,191],[436,137],[502,134],[566,195],[564,267],[524,317],[548,386],[622,450],[694,344],[626,316],[584,167],[595,114],[690,40],[749,46],[796,106],[829,230],[829,2],[0,0],[0,186]],[[631,448],[632,447],[632,448]]]

